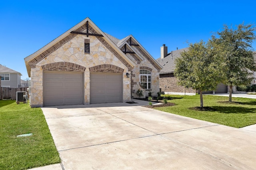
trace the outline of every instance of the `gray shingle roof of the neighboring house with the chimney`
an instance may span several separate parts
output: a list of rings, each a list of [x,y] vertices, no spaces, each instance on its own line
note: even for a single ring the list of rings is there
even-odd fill
[[[183,52],[183,51],[188,51],[188,47],[186,47],[184,49],[178,49],[178,50],[172,51],[172,52],[168,53],[168,55],[166,57],[164,57],[164,59],[161,59],[161,58],[156,59],[156,61],[161,66],[164,67],[160,71],[160,74],[174,72],[174,69],[175,69],[174,61],[175,61],[176,58],[181,57],[180,53]]]

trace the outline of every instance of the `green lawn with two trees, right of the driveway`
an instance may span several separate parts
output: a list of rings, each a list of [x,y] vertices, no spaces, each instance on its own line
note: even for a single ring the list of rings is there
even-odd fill
[[[241,104],[225,104],[218,101],[228,101],[228,97],[204,95],[204,107],[212,107],[216,111],[196,111],[189,109],[189,107],[200,106],[199,95],[163,96],[170,96],[169,98],[172,98],[172,100],[168,100],[168,102],[176,105],[154,107],[154,109],[237,128],[256,124],[256,99],[232,98],[232,101],[240,102]]]

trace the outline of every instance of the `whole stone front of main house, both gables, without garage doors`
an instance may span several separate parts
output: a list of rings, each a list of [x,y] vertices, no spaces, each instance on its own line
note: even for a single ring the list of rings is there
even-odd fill
[[[125,43],[124,47],[120,47],[121,41]],[[122,102],[131,101],[131,98],[137,97],[136,91],[142,89],[140,69],[151,72],[151,89],[142,89],[144,96],[148,96],[149,91],[152,96],[157,96],[159,92],[159,72],[162,67],[138,41],[132,36],[122,40],[107,36],[88,18],[26,57],[25,63],[31,77],[32,107],[44,105],[45,72],[82,72],[84,104],[90,104],[90,73],[93,72],[122,74]],[[130,74],[129,78],[127,73]]]

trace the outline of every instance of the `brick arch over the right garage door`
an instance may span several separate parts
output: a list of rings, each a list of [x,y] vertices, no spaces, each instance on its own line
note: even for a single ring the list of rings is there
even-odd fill
[[[90,72],[115,72],[123,73],[124,69],[112,64],[101,64],[89,68]]]

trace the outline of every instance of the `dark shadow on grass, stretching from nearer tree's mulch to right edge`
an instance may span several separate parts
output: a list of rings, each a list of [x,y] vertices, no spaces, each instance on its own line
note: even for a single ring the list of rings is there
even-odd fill
[[[235,107],[235,106],[212,106],[213,109],[220,113],[256,113],[256,108],[248,108],[248,107]]]

